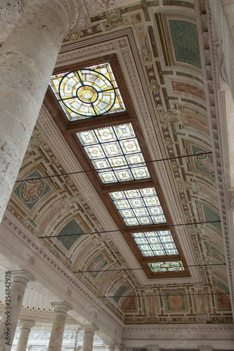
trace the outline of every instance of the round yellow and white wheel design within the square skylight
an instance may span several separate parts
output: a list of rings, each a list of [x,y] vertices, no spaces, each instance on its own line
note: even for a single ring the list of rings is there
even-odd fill
[[[107,113],[115,104],[116,92],[112,82],[93,69],[70,72],[59,84],[60,100],[70,114],[97,116]]]

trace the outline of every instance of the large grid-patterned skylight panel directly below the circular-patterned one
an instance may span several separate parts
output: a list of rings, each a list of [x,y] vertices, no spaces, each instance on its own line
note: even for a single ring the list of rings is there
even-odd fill
[[[131,123],[85,131],[77,136],[103,183],[150,178]]]

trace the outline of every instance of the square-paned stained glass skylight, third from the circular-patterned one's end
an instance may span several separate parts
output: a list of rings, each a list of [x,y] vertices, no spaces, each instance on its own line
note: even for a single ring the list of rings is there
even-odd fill
[[[126,225],[165,223],[166,218],[154,187],[110,192]]]

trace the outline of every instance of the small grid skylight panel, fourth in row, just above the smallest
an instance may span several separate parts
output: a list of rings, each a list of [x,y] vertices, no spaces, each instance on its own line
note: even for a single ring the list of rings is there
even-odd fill
[[[131,234],[145,257],[178,255],[170,230]]]

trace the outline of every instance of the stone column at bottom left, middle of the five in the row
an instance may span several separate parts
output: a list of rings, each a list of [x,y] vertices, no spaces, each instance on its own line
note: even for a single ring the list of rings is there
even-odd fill
[[[67,311],[72,310],[69,303],[51,303],[56,311],[56,317],[53,319],[51,338],[48,344],[48,351],[60,351],[63,343],[63,331],[67,317]]]

